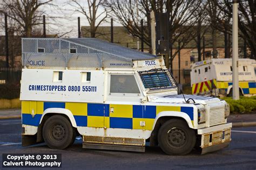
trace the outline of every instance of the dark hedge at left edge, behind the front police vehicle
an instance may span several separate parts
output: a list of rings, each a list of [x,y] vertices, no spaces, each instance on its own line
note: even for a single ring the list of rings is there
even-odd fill
[[[19,83],[0,84],[0,99],[19,98],[21,85]]]

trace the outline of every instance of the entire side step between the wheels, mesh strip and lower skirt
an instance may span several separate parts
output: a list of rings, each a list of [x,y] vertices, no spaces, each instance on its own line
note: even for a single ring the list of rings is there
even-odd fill
[[[83,136],[83,148],[145,152],[145,139],[109,136]]]

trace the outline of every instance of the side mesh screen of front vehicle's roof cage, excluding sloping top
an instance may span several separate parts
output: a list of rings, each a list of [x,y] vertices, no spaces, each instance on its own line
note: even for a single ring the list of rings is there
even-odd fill
[[[133,67],[132,59],[104,53],[63,39],[22,39],[23,66],[27,68],[119,68]]]

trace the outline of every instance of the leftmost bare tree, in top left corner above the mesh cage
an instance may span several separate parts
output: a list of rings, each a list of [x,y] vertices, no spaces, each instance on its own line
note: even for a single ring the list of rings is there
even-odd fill
[[[22,27],[23,36],[32,36],[32,27],[42,24],[40,18],[43,14],[39,7],[50,4],[50,1],[37,0],[2,0],[2,10]]]

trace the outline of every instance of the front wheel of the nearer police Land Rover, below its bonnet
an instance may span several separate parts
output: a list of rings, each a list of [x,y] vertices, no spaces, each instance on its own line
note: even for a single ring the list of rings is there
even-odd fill
[[[166,154],[185,155],[195,146],[196,133],[185,121],[170,119],[160,127],[158,143]]]

